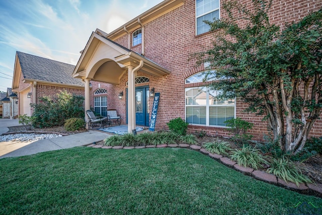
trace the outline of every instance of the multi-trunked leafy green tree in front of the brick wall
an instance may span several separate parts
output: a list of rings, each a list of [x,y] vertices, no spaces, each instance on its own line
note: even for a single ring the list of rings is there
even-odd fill
[[[220,98],[241,98],[247,112],[264,115],[274,140],[294,155],[321,114],[322,10],[281,30],[269,21],[272,1],[252,2],[253,10],[224,4],[227,16],[207,22],[211,48],[193,56],[199,64],[210,62],[204,81],[220,80],[210,84]]]

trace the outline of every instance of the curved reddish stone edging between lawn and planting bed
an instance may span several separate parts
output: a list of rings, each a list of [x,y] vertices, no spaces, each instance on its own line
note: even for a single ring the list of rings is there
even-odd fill
[[[137,146],[137,147],[122,147],[122,146],[115,146],[115,147],[107,147],[103,145],[96,145],[96,144],[90,144],[86,145],[86,147],[92,147],[92,148],[102,148],[102,149],[124,149],[124,150],[130,150],[130,149],[145,149],[145,148],[183,148],[183,149],[190,149],[194,151],[199,151],[200,153],[204,155],[208,155],[210,158],[230,167],[233,168],[244,175],[251,176],[253,178],[256,178],[258,180],[274,184],[286,189],[297,191],[301,194],[307,194],[307,195],[315,195],[317,197],[322,197],[322,184],[308,184],[308,183],[300,183],[299,186],[297,186],[293,182],[286,182],[281,178],[276,177],[273,174],[260,171],[260,170],[254,170],[250,167],[243,167],[239,166],[235,161],[230,160],[229,158],[223,157],[221,155],[212,154],[205,149],[201,148],[197,145],[188,145],[188,144],[171,144],[171,145],[148,145],[148,146]]]

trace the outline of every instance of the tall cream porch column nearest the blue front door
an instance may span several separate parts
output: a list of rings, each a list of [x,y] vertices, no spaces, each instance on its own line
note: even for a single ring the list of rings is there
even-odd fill
[[[135,129],[135,71],[133,66],[128,68],[128,89],[127,89],[127,132],[132,133]]]

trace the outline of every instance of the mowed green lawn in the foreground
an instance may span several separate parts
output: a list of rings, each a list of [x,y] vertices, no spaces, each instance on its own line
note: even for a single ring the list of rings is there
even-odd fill
[[[1,159],[0,171],[0,214],[288,214],[299,213],[299,202],[322,206],[177,148],[79,147]],[[315,207],[305,213],[320,213]]]

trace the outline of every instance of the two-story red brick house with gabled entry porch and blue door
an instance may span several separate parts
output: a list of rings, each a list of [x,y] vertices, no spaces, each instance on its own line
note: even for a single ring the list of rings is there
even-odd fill
[[[188,61],[191,53],[211,44],[213,35],[203,20],[225,17],[223,2],[165,0],[109,34],[100,29],[93,32],[73,72],[73,77],[85,81],[86,109],[95,107],[103,115],[106,107],[117,109],[131,132],[135,124],[149,125],[153,90],[160,93],[156,129],[167,129],[167,122],[181,117],[189,122],[190,132],[228,135],[223,122],[241,117],[254,123],[254,138],[263,139],[267,123],[261,116],[244,113],[247,104],[238,98],[209,105],[216,92],[199,88],[203,83],[198,74],[204,65],[196,67],[195,61]],[[251,5],[250,0],[239,2]],[[321,7],[317,0],[274,0],[270,21],[283,28],[284,23]],[[311,134],[321,133],[319,119]]]

